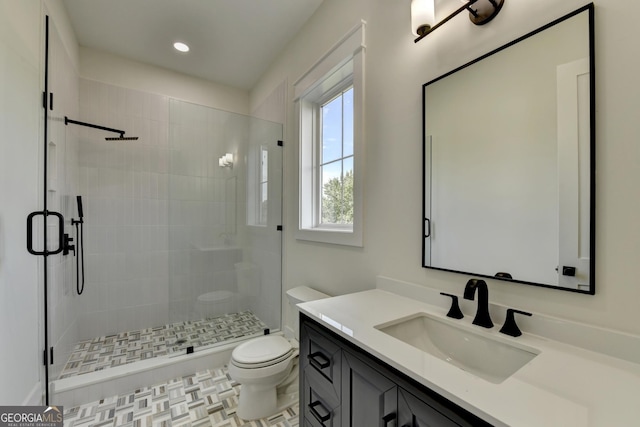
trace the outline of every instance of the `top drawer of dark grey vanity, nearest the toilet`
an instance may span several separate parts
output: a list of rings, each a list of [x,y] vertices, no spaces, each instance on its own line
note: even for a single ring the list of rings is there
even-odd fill
[[[324,381],[340,394],[341,348],[326,334],[321,334],[314,326],[303,324],[300,336],[300,367],[305,372],[315,371],[317,382]],[[316,376],[314,376],[316,377]]]

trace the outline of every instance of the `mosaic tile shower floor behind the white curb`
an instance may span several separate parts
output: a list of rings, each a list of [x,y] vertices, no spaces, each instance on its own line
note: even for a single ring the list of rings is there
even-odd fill
[[[80,341],[59,378],[164,356],[184,351],[187,346],[198,348],[222,341],[262,335],[266,328],[267,325],[255,314],[243,311]]]

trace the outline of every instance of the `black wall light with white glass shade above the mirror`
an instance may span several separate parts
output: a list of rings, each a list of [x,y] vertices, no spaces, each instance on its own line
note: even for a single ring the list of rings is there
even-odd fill
[[[435,0],[411,0],[411,31],[419,42],[439,26],[464,10],[469,11],[469,19],[476,25],[491,21],[502,9],[504,0],[462,0],[464,3],[449,16],[435,24]]]

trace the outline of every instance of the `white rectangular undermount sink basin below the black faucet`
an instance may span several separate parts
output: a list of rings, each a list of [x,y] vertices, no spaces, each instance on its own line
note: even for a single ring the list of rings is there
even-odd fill
[[[509,378],[540,353],[511,339],[480,331],[480,327],[456,324],[427,313],[392,320],[375,328],[495,384]]]

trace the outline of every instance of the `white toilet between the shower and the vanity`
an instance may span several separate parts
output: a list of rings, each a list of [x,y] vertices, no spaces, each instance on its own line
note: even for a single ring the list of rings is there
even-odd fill
[[[296,304],[328,298],[329,295],[299,286],[287,291],[292,308]],[[297,310],[296,310],[297,313]],[[296,316],[295,333],[298,334]],[[253,338],[237,346],[229,361],[229,375],[240,387],[237,415],[245,420],[266,418],[291,403],[287,395],[298,387],[298,342],[281,335]]]

